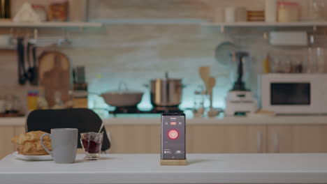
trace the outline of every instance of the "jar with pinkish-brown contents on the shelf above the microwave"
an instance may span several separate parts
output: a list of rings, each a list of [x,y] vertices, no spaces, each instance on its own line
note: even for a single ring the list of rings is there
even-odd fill
[[[293,2],[278,3],[278,22],[298,22],[300,6]]]

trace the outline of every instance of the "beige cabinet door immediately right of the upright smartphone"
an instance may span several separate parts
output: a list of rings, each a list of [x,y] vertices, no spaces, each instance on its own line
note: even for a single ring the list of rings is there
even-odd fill
[[[264,125],[191,125],[188,153],[265,153]]]

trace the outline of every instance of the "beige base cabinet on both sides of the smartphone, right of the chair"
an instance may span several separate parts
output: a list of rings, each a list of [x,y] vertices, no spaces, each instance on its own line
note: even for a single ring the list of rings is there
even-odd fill
[[[160,125],[109,125],[110,153],[160,153]],[[264,125],[187,125],[187,153],[264,153]]]

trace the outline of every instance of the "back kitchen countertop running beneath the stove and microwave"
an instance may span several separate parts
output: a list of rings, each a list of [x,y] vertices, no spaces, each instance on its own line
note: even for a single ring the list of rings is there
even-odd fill
[[[26,118],[0,118],[0,125],[24,125]],[[160,118],[144,115],[126,115],[119,118],[104,118],[106,125],[156,125]],[[275,117],[217,117],[187,118],[187,125],[298,125],[327,124],[327,116],[275,116]]]

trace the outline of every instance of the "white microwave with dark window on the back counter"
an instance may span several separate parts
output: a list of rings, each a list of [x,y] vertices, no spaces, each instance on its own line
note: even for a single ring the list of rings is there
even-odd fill
[[[276,114],[327,114],[327,74],[261,75],[261,109]]]

